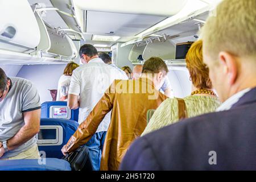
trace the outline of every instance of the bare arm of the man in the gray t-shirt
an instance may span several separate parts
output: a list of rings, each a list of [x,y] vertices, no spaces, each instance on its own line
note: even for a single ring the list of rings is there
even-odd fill
[[[25,125],[18,131],[18,133],[16,133],[16,135],[14,135],[13,138],[7,140],[8,150],[14,150],[39,133],[40,116],[41,109],[23,113]]]

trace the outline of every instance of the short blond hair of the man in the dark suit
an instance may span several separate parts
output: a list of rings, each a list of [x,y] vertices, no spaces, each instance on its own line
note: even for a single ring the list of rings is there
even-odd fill
[[[204,52],[212,59],[226,51],[256,56],[256,0],[224,0],[203,28]]]

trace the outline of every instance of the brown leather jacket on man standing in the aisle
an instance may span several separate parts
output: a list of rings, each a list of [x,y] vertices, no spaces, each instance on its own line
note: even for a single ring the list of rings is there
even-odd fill
[[[148,109],[156,109],[167,96],[154,89],[147,78],[115,80],[89,116],[69,139],[68,152],[88,142],[110,110],[112,117],[102,151],[101,170],[118,170],[134,139],[144,131]]]

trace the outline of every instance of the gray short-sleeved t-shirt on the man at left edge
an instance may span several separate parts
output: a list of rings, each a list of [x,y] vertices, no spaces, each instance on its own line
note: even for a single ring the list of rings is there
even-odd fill
[[[23,113],[40,109],[40,97],[35,86],[26,79],[11,77],[11,88],[0,102],[0,141],[12,137],[24,126]],[[2,158],[10,158],[36,145],[35,136],[15,150],[6,152]]]

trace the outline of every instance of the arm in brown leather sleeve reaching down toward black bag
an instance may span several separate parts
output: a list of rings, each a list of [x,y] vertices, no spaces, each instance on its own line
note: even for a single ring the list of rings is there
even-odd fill
[[[96,132],[102,119],[112,110],[114,102],[115,81],[110,85],[104,96],[98,101],[97,105],[90,112],[84,122],[81,123],[75,134],[69,139],[68,143],[61,149],[64,155],[79,148],[82,144],[89,141]]]

